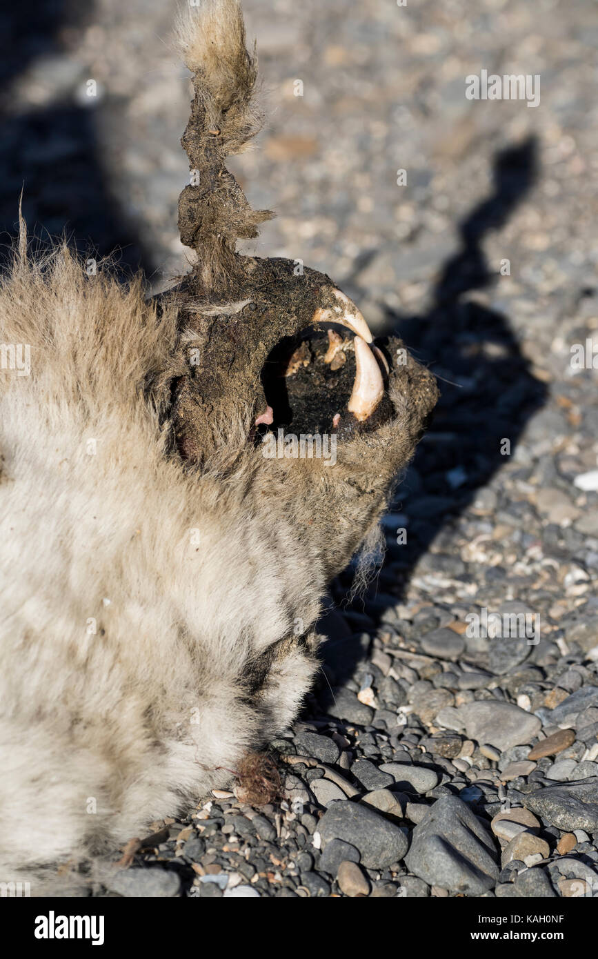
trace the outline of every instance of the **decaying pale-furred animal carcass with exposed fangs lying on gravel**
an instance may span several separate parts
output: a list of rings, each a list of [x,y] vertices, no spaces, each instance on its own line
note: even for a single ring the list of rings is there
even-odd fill
[[[30,258],[21,223],[0,294],[5,354],[31,359],[0,374],[0,878],[34,893],[288,725],[327,584],[437,397],[328,276],[236,252],[270,216],[224,165],[259,126],[256,60],[237,0],[190,8],[179,36],[193,270],[148,301],[66,248]],[[334,464],[264,456],[281,429],[334,437]]]

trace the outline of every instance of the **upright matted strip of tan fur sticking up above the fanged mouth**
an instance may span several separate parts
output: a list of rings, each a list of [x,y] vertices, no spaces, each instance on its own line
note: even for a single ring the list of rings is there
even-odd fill
[[[242,271],[238,238],[258,235],[269,210],[252,210],[225,159],[247,149],[262,127],[255,105],[258,62],[245,47],[238,0],[203,0],[179,13],[177,42],[192,71],[194,101],[181,143],[191,183],[181,193],[181,241],[196,250],[196,275],[206,294],[225,291]]]

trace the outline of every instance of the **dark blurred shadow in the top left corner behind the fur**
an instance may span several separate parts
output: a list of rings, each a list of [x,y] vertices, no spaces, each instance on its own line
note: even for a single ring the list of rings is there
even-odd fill
[[[90,20],[93,6],[72,0],[7,4],[0,12],[5,37],[0,66],[0,264],[10,255],[23,189],[23,215],[39,246],[65,235],[83,255],[103,259],[114,254],[117,271],[124,275],[150,266],[102,168],[94,116],[102,107],[78,105],[77,88],[84,90],[85,80],[67,76],[63,31],[79,30]],[[19,102],[15,90],[30,68],[40,88],[48,85],[50,74],[58,77],[58,93],[50,103],[33,105],[27,97]]]

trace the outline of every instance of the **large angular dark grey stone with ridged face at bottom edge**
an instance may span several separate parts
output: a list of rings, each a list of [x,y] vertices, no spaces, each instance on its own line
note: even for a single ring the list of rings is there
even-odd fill
[[[479,896],[498,879],[495,857],[491,833],[462,800],[446,796],[413,830],[405,864],[430,886]]]

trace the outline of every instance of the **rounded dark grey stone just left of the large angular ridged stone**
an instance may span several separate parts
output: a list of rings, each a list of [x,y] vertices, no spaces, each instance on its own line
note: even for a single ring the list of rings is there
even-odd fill
[[[319,821],[323,848],[333,839],[355,846],[368,869],[384,869],[403,859],[408,841],[402,829],[363,803],[333,803]]]

